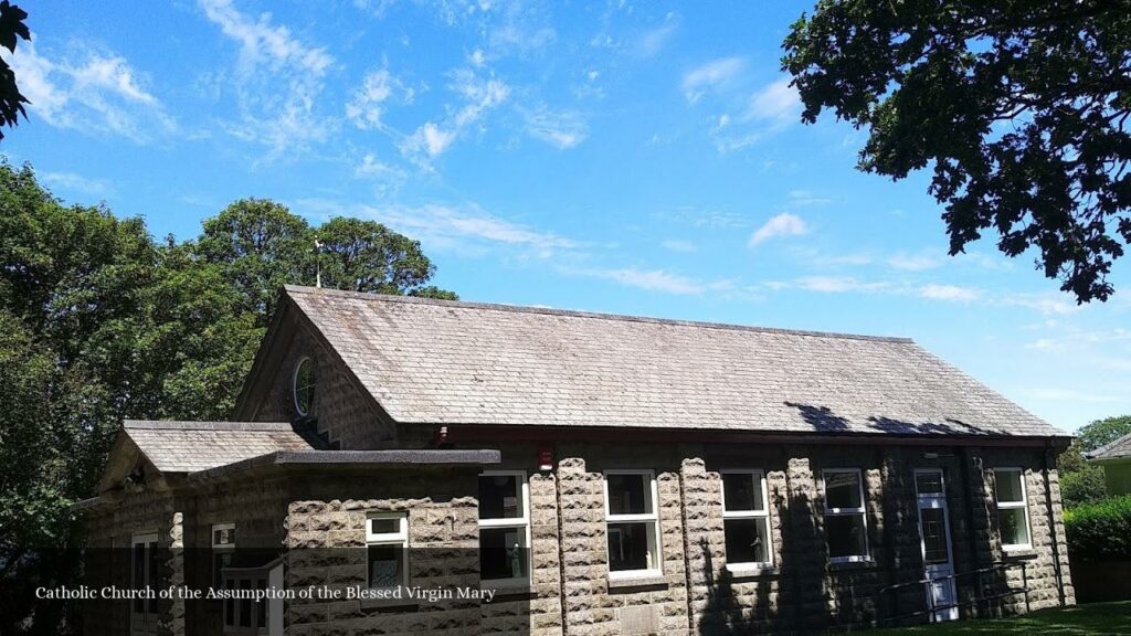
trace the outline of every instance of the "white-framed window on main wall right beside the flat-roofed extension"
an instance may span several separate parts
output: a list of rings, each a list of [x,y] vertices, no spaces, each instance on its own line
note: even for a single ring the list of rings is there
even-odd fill
[[[523,471],[480,473],[480,579],[530,578],[530,493]]]

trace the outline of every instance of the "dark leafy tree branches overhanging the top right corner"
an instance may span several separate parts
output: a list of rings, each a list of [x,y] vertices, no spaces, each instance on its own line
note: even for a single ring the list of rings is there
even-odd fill
[[[812,123],[869,129],[858,167],[933,166],[950,253],[983,232],[1080,303],[1131,243],[1131,0],[820,0],[783,44]]]

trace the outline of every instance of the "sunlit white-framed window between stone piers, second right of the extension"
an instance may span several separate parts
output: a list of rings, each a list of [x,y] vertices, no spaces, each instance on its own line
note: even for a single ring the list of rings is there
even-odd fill
[[[605,471],[610,576],[659,575],[659,514],[653,471]]]

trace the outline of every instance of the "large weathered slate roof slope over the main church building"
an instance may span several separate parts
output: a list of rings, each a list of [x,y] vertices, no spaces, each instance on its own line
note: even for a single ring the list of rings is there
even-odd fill
[[[286,293],[399,422],[1067,437],[906,338]]]

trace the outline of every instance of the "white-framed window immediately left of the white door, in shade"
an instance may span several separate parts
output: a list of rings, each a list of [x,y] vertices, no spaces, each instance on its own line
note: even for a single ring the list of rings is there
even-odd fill
[[[824,541],[830,562],[866,561],[867,512],[860,469],[828,469],[824,479]]]

